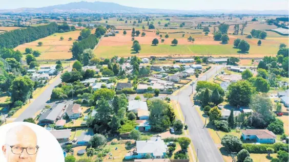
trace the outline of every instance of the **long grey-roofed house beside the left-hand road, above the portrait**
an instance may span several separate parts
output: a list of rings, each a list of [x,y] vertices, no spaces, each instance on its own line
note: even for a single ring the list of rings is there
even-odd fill
[[[57,120],[61,119],[66,111],[66,104],[57,104],[55,107],[50,108],[38,119],[38,125],[54,124]]]

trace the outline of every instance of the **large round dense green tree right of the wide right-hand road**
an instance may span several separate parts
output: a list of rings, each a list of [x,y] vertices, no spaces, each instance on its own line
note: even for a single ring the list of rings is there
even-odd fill
[[[231,105],[246,106],[254,92],[255,89],[249,81],[240,80],[229,85],[227,98]]]

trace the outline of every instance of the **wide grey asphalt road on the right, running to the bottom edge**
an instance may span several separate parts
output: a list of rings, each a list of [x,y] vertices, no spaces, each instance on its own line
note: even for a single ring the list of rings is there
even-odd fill
[[[219,71],[222,65],[215,66],[211,71],[208,71],[204,76],[198,78],[198,81],[204,81],[206,78],[211,78],[216,75],[216,70]],[[196,84],[193,85],[195,91]],[[200,162],[219,162],[224,161],[214,141],[212,140],[207,128],[203,128],[204,124],[199,116],[196,107],[194,107],[190,100],[192,94],[192,86],[182,89],[179,93],[178,102],[180,104],[182,113],[187,116],[185,124],[188,125],[190,137],[194,144],[195,151],[198,149],[198,161]],[[177,97],[177,96],[176,96]]]

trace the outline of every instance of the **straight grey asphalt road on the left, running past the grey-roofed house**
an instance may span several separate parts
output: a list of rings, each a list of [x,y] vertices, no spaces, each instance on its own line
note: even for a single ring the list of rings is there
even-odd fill
[[[71,68],[69,69],[69,71],[71,71]],[[49,103],[48,101],[52,94],[52,90],[59,83],[61,83],[60,75],[55,78],[54,82],[49,84],[49,86],[44,90],[42,94],[40,94],[36,99],[34,99],[34,101],[26,108],[23,113],[19,115],[18,118],[14,120],[14,122],[22,122],[24,119],[34,118],[35,113],[45,108],[45,105],[54,105],[55,103]]]

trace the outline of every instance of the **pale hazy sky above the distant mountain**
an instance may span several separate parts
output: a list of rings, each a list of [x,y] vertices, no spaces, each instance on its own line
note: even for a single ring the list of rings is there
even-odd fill
[[[2,1],[2,2],[1,2]],[[39,8],[84,0],[0,0],[0,9]],[[95,2],[86,0],[87,2]],[[288,0],[98,0],[123,6],[174,10],[288,10]]]

